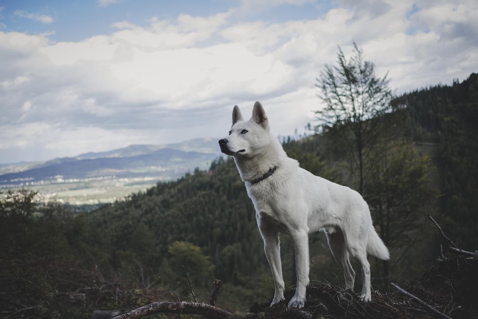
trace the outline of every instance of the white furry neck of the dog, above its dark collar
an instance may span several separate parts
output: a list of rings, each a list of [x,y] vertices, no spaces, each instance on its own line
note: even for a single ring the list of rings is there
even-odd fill
[[[284,158],[287,158],[287,154],[282,149],[281,143],[271,136],[271,143],[264,152],[254,157],[234,156],[234,161],[242,181],[250,182],[260,178],[271,168],[280,169]]]

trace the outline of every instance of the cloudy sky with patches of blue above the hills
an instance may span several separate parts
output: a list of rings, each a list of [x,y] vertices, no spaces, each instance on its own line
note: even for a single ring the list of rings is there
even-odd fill
[[[478,1],[0,0],[0,163],[315,122],[355,41],[397,94],[478,71]]]

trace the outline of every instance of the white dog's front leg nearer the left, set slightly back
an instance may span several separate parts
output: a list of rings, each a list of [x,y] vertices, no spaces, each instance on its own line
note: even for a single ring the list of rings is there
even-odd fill
[[[272,304],[284,300],[284,280],[282,279],[281,249],[279,242],[279,232],[265,220],[259,223],[262,239],[264,240],[264,252],[266,253],[269,266],[271,267],[272,277],[274,278],[274,299]]]

